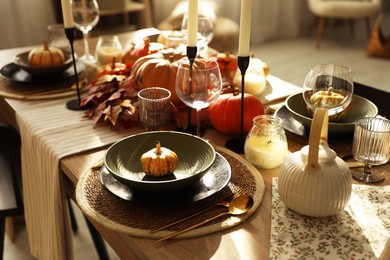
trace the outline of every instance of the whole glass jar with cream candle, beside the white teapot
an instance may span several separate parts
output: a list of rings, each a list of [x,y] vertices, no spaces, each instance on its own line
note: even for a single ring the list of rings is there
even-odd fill
[[[288,152],[282,120],[271,115],[253,118],[253,126],[244,145],[245,158],[262,169],[273,169],[283,164]]]

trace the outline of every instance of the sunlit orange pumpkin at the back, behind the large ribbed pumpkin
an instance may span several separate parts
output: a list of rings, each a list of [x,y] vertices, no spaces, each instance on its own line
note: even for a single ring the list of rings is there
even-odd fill
[[[131,69],[133,67],[134,62],[136,62],[136,60],[138,60],[139,58],[152,53],[156,53],[163,49],[163,44],[157,42],[150,42],[150,39],[146,37],[143,39],[142,43],[138,45],[133,44],[132,47],[125,52],[125,54],[122,56],[122,62],[126,64],[129,69]]]

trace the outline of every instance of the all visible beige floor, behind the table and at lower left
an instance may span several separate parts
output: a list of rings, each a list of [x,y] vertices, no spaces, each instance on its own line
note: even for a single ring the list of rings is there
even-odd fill
[[[343,24],[327,28],[320,49],[315,48],[314,32],[310,36],[277,39],[252,47],[257,58],[267,62],[271,74],[302,86],[307,70],[318,63],[337,63],[352,68],[354,80],[390,92],[390,60],[366,55],[363,24],[356,24],[353,37]],[[74,207],[79,232],[74,235],[75,259],[97,259],[81,212]],[[107,246],[111,259],[119,259]],[[27,234],[19,225],[15,243],[5,239],[4,259],[34,259],[29,254]]]

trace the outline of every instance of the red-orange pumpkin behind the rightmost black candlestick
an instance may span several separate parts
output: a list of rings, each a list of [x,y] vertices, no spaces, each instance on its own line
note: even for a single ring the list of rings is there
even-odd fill
[[[253,118],[264,114],[261,101],[254,95],[244,94],[244,129],[247,134],[253,125]],[[213,126],[225,134],[241,132],[241,93],[221,95],[209,107],[209,117]]]

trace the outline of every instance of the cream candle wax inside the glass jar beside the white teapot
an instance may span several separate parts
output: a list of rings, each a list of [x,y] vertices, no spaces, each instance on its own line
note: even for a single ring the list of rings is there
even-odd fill
[[[280,166],[286,158],[287,142],[270,136],[251,135],[245,142],[245,157],[254,165],[263,169]]]

